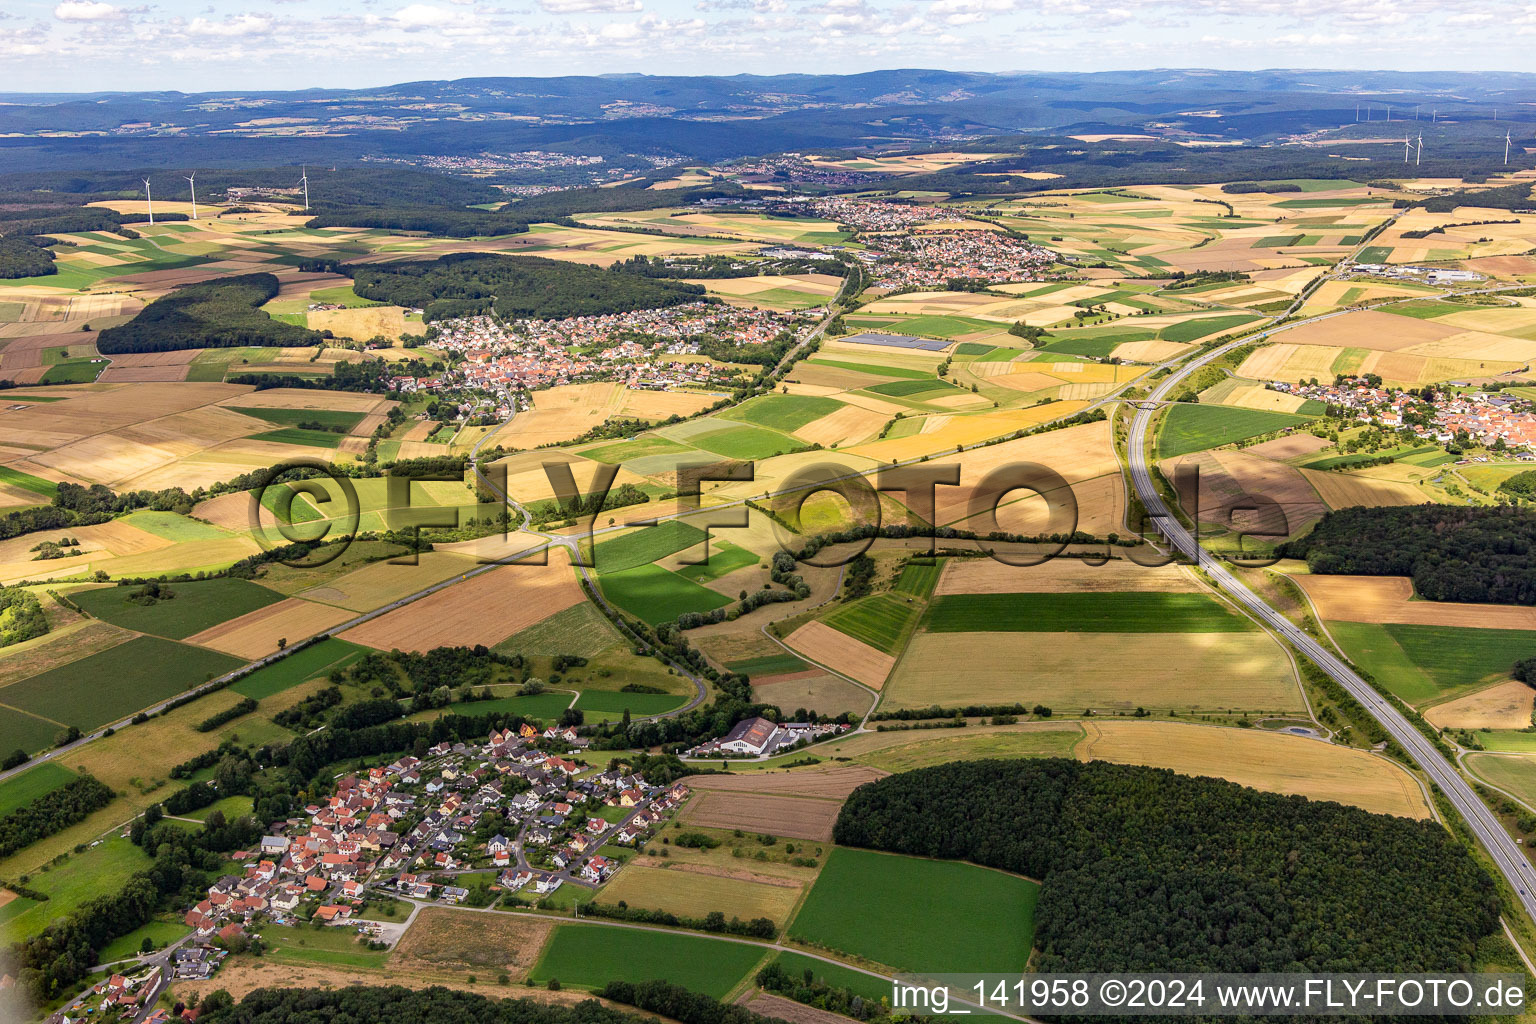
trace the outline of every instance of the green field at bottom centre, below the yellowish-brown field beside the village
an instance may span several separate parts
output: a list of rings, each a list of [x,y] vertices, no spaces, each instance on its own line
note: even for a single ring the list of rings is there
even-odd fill
[[[528,978],[547,984],[599,989],[610,981],[670,981],[716,999],[742,981],[768,952],[660,929],[561,924]]]

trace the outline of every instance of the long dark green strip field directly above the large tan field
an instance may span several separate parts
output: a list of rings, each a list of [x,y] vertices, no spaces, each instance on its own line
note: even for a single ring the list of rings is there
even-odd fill
[[[929,633],[1246,633],[1256,626],[1206,594],[946,594]]]

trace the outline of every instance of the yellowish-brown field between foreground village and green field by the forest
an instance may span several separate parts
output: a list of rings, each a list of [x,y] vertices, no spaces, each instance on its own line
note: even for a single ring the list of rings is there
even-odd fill
[[[746,861],[751,863],[751,861]],[[599,903],[619,903],[645,910],[668,910],[703,918],[713,910],[743,921],[768,918],[783,924],[800,900],[802,886],[788,878],[750,870],[720,870],[702,864],[651,866],[636,857],[604,886]]]

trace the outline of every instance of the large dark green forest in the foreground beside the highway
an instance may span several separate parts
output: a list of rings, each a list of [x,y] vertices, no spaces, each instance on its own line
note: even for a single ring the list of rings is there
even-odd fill
[[[1499,927],[1439,824],[1155,768],[903,772],[857,789],[833,838],[1043,880],[1041,972],[1467,970]]]

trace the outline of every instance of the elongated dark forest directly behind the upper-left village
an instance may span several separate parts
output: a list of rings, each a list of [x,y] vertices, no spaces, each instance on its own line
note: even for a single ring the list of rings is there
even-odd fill
[[[413,306],[425,318],[591,316],[696,302],[703,287],[654,281],[539,256],[450,253],[438,259],[358,267],[353,290],[362,298]]]

